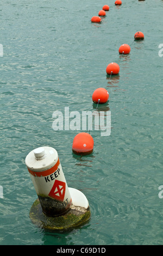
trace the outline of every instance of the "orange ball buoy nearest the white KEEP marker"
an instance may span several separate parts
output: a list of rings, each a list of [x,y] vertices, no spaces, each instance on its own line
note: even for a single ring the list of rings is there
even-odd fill
[[[89,155],[93,152],[94,141],[92,136],[86,132],[78,133],[72,143],[72,151],[76,155]]]

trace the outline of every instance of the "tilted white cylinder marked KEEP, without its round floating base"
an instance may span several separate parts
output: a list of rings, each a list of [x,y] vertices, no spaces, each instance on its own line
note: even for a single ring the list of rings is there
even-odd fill
[[[42,211],[48,216],[64,214],[72,199],[57,151],[51,147],[34,149],[27,155],[26,165]]]

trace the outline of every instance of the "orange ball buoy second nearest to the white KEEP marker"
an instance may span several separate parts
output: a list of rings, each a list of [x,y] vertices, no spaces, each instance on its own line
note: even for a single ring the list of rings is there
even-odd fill
[[[94,103],[103,104],[109,99],[109,93],[105,88],[97,88],[92,94],[92,101]]]

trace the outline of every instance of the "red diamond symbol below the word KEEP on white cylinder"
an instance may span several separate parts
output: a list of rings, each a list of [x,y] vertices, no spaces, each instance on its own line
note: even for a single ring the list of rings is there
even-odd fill
[[[54,185],[48,194],[49,197],[55,198],[59,201],[64,201],[66,191],[66,184],[60,180],[55,180]]]

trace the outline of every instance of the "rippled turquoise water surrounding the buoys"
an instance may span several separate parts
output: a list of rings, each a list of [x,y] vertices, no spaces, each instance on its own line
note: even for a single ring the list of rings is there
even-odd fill
[[[1,1],[0,245],[162,245],[163,1]],[[91,23],[104,4],[101,24]],[[142,31],[145,40],[136,42]],[[129,44],[128,56],[118,48]],[[119,76],[106,66],[120,65]],[[80,131],[54,131],[54,111],[93,111],[103,87],[111,134],[91,131],[93,154],[72,154]],[[51,234],[33,225],[37,198],[24,160],[34,148],[58,151],[69,187],[89,200],[91,219]]]

